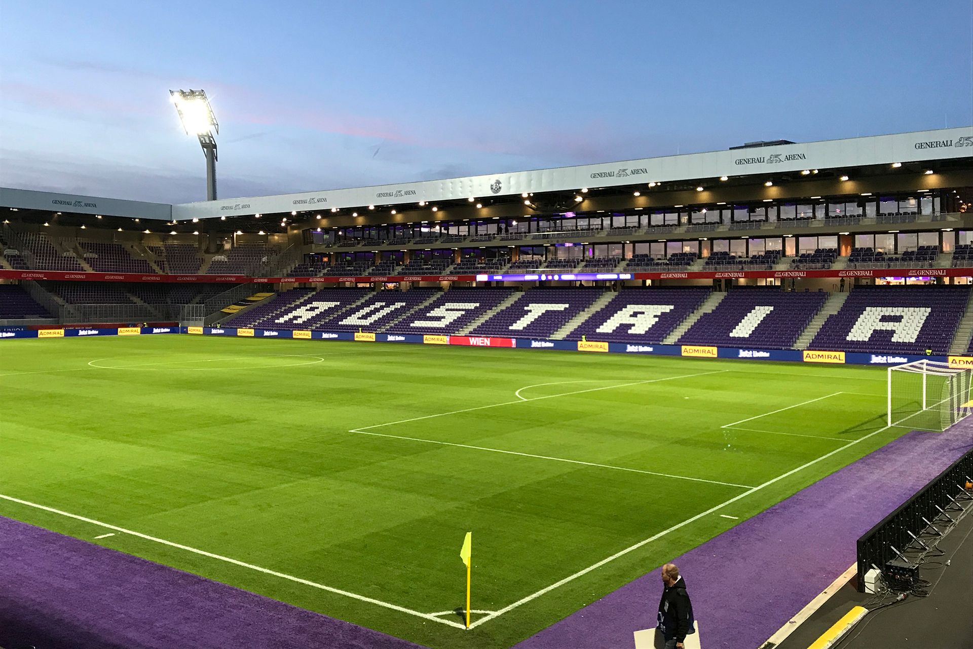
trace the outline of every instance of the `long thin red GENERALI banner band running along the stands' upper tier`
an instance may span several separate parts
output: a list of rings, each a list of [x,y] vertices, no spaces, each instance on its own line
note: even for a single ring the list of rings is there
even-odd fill
[[[347,277],[250,277],[248,275],[162,275],[131,272],[67,272],[64,270],[0,270],[0,279],[49,279],[57,281],[124,281],[191,284],[343,284],[444,281],[577,281],[626,279],[805,279],[814,277],[971,277],[973,268],[957,269],[867,269],[867,270],[732,270],[716,272],[598,272],[563,274],[479,274],[479,275],[355,275]]]

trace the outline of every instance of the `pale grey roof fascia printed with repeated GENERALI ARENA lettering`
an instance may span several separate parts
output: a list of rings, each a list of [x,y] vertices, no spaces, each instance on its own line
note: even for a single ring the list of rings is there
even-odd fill
[[[0,188],[0,206],[183,221],[345,207],[367,209],[370,205],[414,206],[420,201],[510,198],[650,182],[719,182],[722,176],[970,158],[973,157],[973,126],[819,142],[763,144],[749,149],[173,205]]]

